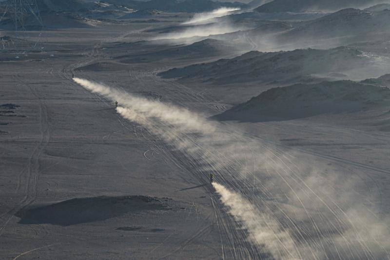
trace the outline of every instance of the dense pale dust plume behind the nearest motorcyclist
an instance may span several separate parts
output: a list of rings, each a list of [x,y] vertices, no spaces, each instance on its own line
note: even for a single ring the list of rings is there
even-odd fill
[[[248,229],[249,239],[255,245],[264,246],[275,259],[302,259],[292,237],[279,223],[257,210],[238,193],[216,182],[213,182],[213,186],[221,196],[222,203],[228,207],[229,213]]]

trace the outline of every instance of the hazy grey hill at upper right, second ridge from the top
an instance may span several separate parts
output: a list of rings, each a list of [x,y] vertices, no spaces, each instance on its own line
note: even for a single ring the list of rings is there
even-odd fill
[[[389,28],[389,9],[370,12],[349,8],[295,26],[270,40],[275,44],[284,44],[286,48],[327,48],[362,41],[386,42]]]

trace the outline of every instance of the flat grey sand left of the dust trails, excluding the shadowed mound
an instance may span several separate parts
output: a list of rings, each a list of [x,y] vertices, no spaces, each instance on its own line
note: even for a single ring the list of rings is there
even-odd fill
[[[71,69],[96,56],[91,38],[80,45],[67,42],[68,34],[73,39],[79,33],[66,32],[64,42],[52,45],[53,52],[37,55],[44,61],[1,63],[1,103],[20,106],[17,117],[0,119],[7,123],[1,125],[7,133],[0,137],[1,259],[219,259],[215,223],[222,217],[215,213],[218,206],[210,200],[207,179],[199,183],[188,176],[145,129],[119,117],[111,102],[73,83]],[[94,37],[98,42],[110,34]],[[64,45],[71,50],[58,58],[56,48]],[[203,189],[192,188],[203,184]],[[106,219],[100,216],[105,203],[98,197],[103,195],[113,200],[168,197],[159,200],[171,209],[129,207]],[[96,199],[78,201],[76,208],[60,205],[59,212],[45,212],[37,223],[23,224],[15,216],[25,207],[87,197]],[[92,219],[78,223],[78,208],[89,203],[97,204]],[[76,223],[56,223],[58,217]],[[142,228],[118,230],[133,226]]]

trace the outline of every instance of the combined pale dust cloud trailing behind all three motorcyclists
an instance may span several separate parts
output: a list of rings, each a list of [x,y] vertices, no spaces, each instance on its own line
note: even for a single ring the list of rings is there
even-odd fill
[[[215,171],[222,202],[260,251],[276,259],[389,259],[390,221],[375,214],[375,197],[354,190],[361,185],[355,175],[328,172],[327,162],[300,160],[300,154],[173,104],[74,81],[117,100],[123,118],[180,151],[199,178]]]

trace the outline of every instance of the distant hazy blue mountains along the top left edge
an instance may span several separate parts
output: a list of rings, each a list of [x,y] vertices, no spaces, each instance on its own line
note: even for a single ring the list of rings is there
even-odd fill
[[[12,4],[12,0],[2,1],[0,6],[0,26],[7,27],[12,22],[12,14],[6,12],[5,4]],[[40,0],[37,1],[39,13],[47,28],[62,27],[88,27],[95,25],[96,21],[88,19],[131,19],[147,18],[160,12],[195,13],[215,10],[220,7],[246,8],[242,2],[219,2],[212,0]],[[35,16],[25,12],[23,19],[28,24],[25,29],[34,29],[38,24],[34,21]],[[87,19],[88,18],[88,19]],[[10,26],[8,26],[10,27]],[[7,28],[8,28],[7,27]]]

